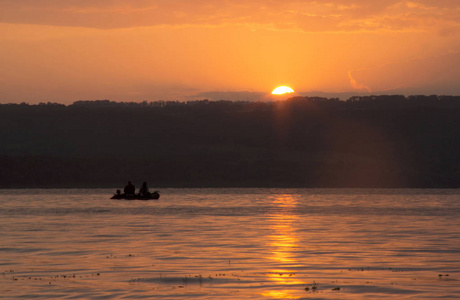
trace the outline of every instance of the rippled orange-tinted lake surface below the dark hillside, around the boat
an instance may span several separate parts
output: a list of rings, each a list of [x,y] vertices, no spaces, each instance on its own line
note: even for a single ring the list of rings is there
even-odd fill
[[[0,190],[0,298],[460,299],[460,190]]]

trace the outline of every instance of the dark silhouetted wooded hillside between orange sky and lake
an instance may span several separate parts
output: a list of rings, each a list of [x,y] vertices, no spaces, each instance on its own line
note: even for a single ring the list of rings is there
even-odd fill
[[[0,187],[460,187],[460,97],[0,105]]]

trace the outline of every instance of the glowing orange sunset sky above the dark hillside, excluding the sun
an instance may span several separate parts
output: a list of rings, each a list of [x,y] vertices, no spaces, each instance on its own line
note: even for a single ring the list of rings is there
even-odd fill
[[[460,1],[0,0],[0,103],[251,100],[280,85],[460,95]]]

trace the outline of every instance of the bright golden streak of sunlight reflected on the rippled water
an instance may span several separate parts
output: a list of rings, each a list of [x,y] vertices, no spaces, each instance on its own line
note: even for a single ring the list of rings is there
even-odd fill
[[[278,195],[274,198],[273,204],[279,208],[279,212],[270,218],[272,222],[270,228],[273,230],[273,234],[268,236],[270,240],[269,249],[271,249],[269,259],[281,265],[286,264],[286,268],[270,270],[267,277],[281,286],[303,284],[304,282],[296,279],[295,272],[289,270],[289,266],[293,266],[297,262],[292,254],[293,250],[298,247],[298,237],[292,226],[298,219],[297,215],[292,214],[292,209],[297,206],[297,199],[289,194]],[[274,299],[299,298],[292,295],[289,290],[272,290],[261,293],[261,295]]]

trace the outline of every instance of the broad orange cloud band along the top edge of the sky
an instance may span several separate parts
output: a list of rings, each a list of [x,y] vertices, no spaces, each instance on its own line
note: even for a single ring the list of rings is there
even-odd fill
[[[125,28],[247,24],[307,32],[460,26],[457,0],[0,0],[0,22]]]

